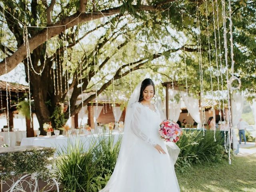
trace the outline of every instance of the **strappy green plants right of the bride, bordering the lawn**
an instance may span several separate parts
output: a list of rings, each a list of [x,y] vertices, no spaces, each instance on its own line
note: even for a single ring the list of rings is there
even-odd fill
[[[180,154],[175,164],[176,169],[184,172],[193,164],[219,162],[226,156],[223,144],[224,138],[221,132],[216,132],[216,142],[214,142],[212,131],[206,131],[203,136],[202,131],[186,130],[177,143]]]

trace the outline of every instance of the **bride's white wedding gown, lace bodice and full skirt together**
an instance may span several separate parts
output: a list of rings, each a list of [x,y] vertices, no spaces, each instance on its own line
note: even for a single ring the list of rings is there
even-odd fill
[[[114,172],[100,192],[179,192],[174,162],[158,134],[160,114],[137,104],[132,126],[146,133],[167,154],[160,154],[138,134],[126,130]],[[142,114],[142,115],[141,115]],[[135,118],[139,117],[137,121]],[[125,127],[126,128],[126,127]],[[178,148],[178,147],[177,147]]]

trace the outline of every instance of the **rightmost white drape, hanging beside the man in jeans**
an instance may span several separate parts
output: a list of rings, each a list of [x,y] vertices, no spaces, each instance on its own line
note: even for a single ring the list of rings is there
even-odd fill
[[[233,93],[231,99],[231,117],[232,125],[236,127],[238,124],[244,107],[244,96],[240,92]]]

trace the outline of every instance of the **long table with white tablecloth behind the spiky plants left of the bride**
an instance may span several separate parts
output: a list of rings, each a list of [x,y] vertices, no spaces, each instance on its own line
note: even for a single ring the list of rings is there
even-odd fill
[[[70,136],[40,136],[40,137],[30,137],[23,138],[20,146],[42,146],[42,147],[54,147],[58,151],[65,150],[68,146],[68,143],[74,144],[78,140],[84,146],[84,148],[88,148],[90,144],[95,144],[99,140],[99,137],[108,137],[111,134],[89,134],[89,135],[70,135]],[[112,136],[114,136],[114,143],[117,142],[120,137],[120,133],[113,132]],[[66,150],[65,150],[66,151]]]

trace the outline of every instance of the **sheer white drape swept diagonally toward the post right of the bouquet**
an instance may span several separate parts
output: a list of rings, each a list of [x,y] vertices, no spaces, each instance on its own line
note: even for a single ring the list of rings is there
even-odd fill
[[[191,117],[198,123],[198,128],[202,128],[202,122],[200,118],[199,100],[188,96],[186,92],[180,92],[182,99],[187,107],[187,110]]]

